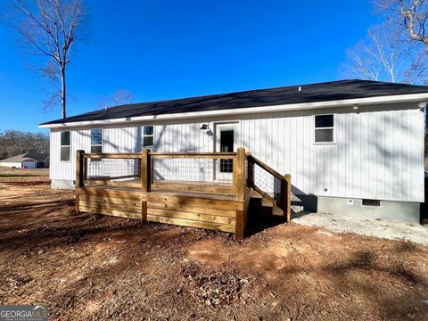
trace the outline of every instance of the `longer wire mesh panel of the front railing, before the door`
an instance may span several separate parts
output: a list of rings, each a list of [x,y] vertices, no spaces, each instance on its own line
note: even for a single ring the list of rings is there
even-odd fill
[[[152,158],[153,182],[233,185],[234,160]]]

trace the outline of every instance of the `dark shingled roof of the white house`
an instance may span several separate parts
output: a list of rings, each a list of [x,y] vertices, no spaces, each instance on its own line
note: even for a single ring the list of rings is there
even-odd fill
[[[206,95],[151,103],[131,103],[111,107],[107,111],[91,111],[41,125],[65,122],[122,119],[137,116],[174,114],[179,112],[219,111],[226,109],[271,106],[288,103],[314,103],[366,98],[383,95],[428,93],[428,86],[392,84],[369,80],[340,80],[310,85],[283,86],[237,93]]]

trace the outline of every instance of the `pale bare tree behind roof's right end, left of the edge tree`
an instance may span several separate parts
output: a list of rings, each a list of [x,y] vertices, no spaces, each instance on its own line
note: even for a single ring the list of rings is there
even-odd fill
[[[346,69],[358,78],[396,82],[404,75],[402,70],[408,55],[399,30],[383,24],[368,30],[366,40],[360,41],[348,53]]]

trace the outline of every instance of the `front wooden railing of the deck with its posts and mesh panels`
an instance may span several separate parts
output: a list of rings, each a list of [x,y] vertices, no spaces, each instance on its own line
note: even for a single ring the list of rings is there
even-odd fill
[[[77,152],[76,187],[86,185],[224,193],[243,200],[245,150],[237,152]]]

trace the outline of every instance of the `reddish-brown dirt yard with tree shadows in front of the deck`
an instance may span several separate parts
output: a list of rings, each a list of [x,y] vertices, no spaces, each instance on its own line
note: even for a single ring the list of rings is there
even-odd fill
[[[46,174],[0,171],[0,304],[62,320],[428,319],[423,245],[284,224],[238,243],[76,214]]]

